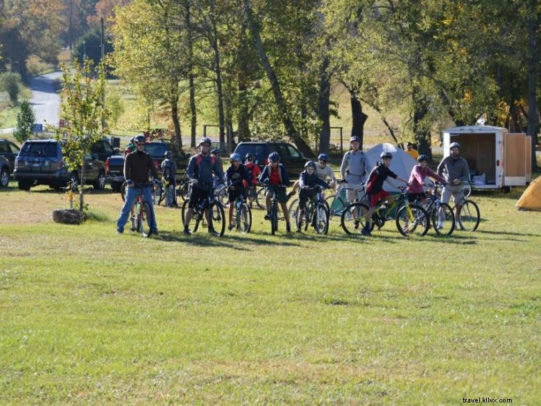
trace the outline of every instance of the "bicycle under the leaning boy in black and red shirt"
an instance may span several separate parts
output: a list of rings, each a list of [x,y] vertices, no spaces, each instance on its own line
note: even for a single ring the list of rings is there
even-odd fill
[[[400,189],[400,194],[393,195],[395,201],[392,205],[388,205],[386,201],[377,203],[372,214],[370,231],[375,227],[380,230],[386,221],[395,220],[397,230],[404,237],[427,234],[430,226],[428,213],[420,205],[409,203],[405,186]],[[343,230],[349,235],[360,232],[365,226],[363,219],[366,219],[368,210],[368,206],[364,203],[357,202],[347,205],[341,217]]]

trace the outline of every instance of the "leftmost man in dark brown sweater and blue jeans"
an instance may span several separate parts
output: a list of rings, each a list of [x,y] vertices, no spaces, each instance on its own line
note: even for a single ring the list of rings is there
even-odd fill
[[[151,184],[148,183],[149,173],[157,180],[158,175],[156,167],[154,166],[154,160],[151,155],[148,155],[148,153],[144,151],[145,137],[143,135],[138,135],[133,141],[135,142],[137,151],[129,153],[124,159],[124,178],[126,178],[126,183],[128,183],[128,190],[119,219],[117,220],[117,232],[119,234],[124,232],[124,226],[126,226],[126,221],[128,221],[128,215],[130,214],[133,203],[135,203],[137,196],[143,192],[145,201],[151,209],[151,217],[148,218],[148,227],[151,230],[151,234],[157,234]]]

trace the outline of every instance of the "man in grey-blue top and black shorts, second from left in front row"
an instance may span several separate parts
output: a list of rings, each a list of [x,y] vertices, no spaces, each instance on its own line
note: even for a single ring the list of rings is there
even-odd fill
[[[186,219],[184,220],[184,234],[190,235],[191,232],[188,229],[191,217],[194,217],[194,207],[200,201],[208,198],[212,194],[212,185],[214,178],[212,174],[216,174],[218,179],[223,178],[223,170],[221,164],[218,164],[216,158],[211,157],[210,144],[212,141],[208,137],[204,137],[200,140],[199,153],[190,158],[186,174],[191,182],[191,194],[188,201],[188,211],[186,212]],[[210,224],[208,219],[208,211],[205,211],[205,217],[207,217],[207,223]],[[209,227],[208,232],[214,232]]]

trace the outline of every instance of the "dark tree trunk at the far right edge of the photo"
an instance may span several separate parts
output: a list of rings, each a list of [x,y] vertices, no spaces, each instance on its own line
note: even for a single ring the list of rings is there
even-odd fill
[[[526,134],[531,136],[531,169],[538,168],[538,161],[535,155],[535,145],[538,142],[538,105],[535,95],[538,83],[538,38],[536,28],[539,26],[539,17],[535,12],[537,0],[530,1],[530,12],[528,17],[529,37],[529,63],[528,63],[528,128]]]

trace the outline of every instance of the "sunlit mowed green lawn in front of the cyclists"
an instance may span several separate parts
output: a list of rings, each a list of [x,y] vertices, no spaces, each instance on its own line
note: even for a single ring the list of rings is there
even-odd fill
[[[119,194],[0,191],[0,404],[462,405],[541,398],[541,213],[477,193],[474,233],[115,233]],[[284,225],[280,224],[282,230]]]

